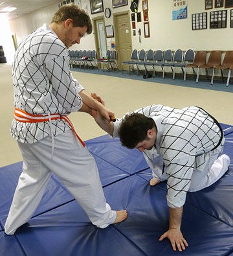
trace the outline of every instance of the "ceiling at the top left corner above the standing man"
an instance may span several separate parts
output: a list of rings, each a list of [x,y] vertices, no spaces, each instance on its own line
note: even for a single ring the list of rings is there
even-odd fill
[[[24,16],[34,10],[52,5],[54,3],[60,3],[59,0],[0,0],[0,14],[5,13],[8,19],[14,19],[15,17]],[[1,12],[3,8],[16,7],[16,10],[12,12]]]

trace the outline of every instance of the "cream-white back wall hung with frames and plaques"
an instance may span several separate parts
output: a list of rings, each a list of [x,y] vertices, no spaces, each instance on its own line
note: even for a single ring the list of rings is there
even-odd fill
[[[59,3],[60,1],[58,1]],[[103,0],[104,9],[111,9],[111,17],[105,18],[105,25],[113,25],[113,14],[129,10],[131,1],[128,0],[128,6],[118,8],[112,7],[111,0]],[[230,28],[230,8],[227,8],[227,28],[226,29],[209,29],[210,27],[210,10],[205,10],[204,0],[186,0],[188,4],[188,18],[180,20],[172,20],[173,0],[148,0],[148,17],[150,21],[150,38],[144,38],[143,14],[142,21],[136,21],[136,29],[141,29],[141,43],[139,43],[139,35],[132,35],[133,49],[162,49],[171,48],[173,50],[181,48],[183,50],[193,48],[199,50],[232,50],[233,29]],[[104,12],[91,15],[89,0],[82,0],[82,7],[87,5],[88,13],[93,17],[104,16]],[[223,10],[225,8],[213,8],[212,10]],[[58,5],[51,5],[42,8],[36,12],[32,12],[27,16],[18,17],[10,20],[10,29],[12,34],[16,34],[19,43],[28,33],[35,30],[43,23],[50,23],[52,15],[58,10]],[[142,12],[142,0],[139,0],[139,12]],[[199,12],[207,12],[208,29],[192,30],[192,14]],[[130,11],[131,13],[131,11]],[[131,17],[130,22],[131,22]],[[114,39],[113,39],[114,40]],[[94,49],[93,33],[82,39],[80,45],[74,45],[71,49]]]

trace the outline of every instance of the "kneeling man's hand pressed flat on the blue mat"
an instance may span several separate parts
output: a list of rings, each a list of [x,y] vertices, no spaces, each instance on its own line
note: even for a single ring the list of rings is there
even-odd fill
[[[185,250],[185,246],[188,246],[188,243],[184,239],[181,231],[179,229],[169,229],[163,235],[161,235],[159,241],[168,238],[172,244],[172,249],[176,251],[176,247],[179,251]]]

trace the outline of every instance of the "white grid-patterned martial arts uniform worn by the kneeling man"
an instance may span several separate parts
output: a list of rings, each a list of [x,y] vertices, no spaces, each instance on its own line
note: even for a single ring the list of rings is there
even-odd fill
[[[204,189],[227,171],[229,157],[219,157],[225,140],[222,130],[206,111],[151,105],[134,112],[150,117],[157,126],[155,146],[143,154],[153,177],[167,180],[169,207],[181,207],[187,191]],[[121,121],[114,122],[113,137],[118,136]]]

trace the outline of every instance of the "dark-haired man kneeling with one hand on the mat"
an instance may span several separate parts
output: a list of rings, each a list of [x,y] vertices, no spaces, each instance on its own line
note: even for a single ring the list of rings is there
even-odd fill
[[[151,105],[115,123],[94,110],[93,116],[105,132],[120,137],[123,146],[143,152],[153,172],[150,185],[167,180],[170,226],[159,240],[167,237],[173,250],[185,250],[188,243],[181,233],[181,220],[186,193],[212,185],[230,164],[230,158],[221,155],[225,139],[220,124],[197,107],[179,110]]]

